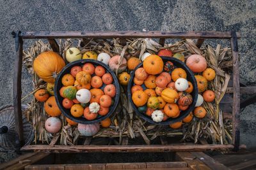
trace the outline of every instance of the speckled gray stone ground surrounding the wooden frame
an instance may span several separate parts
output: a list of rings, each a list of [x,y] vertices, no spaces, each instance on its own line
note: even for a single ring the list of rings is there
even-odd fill
[[[241,31],[241,79],[256,80],[256,1],[0,1],[0,106],[12,103],[15,60],[11,31]],[[227,41],[218,41],[229,45]],[[209,41],[216,43],[216,41]],[[28,46],[25,43],[24,46]],[[31,78],[22,74],[23,95]],[[255,106],[241,113],[241,143],[256,146]]]

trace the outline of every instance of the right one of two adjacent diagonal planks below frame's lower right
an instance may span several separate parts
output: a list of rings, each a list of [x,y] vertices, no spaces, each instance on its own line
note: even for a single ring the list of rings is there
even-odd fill
[[[224,166],[220,162],[212,159],[209,155],[206,155],[203,152],[192,152],[192,155],[197,157],[200,161],[204,162],[207,166],[211,167],[212,170],[228,170],[227,166]]]

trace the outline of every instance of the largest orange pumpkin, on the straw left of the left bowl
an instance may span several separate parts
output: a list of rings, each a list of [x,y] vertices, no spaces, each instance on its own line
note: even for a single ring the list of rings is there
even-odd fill
[[[56,52],[42,52],[33,62],[35,73],[48,83],[54,83],[65,62]]]

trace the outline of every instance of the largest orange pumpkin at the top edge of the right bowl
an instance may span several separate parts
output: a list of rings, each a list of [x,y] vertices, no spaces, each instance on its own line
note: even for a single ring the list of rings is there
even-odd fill
[[[148,74],[160,74],[163,71],[164,62],[158,55],[150,55],[143,61],[143,68]]]

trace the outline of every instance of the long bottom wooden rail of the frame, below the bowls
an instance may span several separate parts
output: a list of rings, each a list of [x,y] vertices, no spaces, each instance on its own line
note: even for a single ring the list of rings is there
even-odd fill
[[[192,144],[174,144],[174,145],[28,145],[23,146],[21,150],[35,152],[203,152],[203,151],[228,151],[234,148],[233,145],[192,145]],[[241,145],[240,148],[246,148]]]

